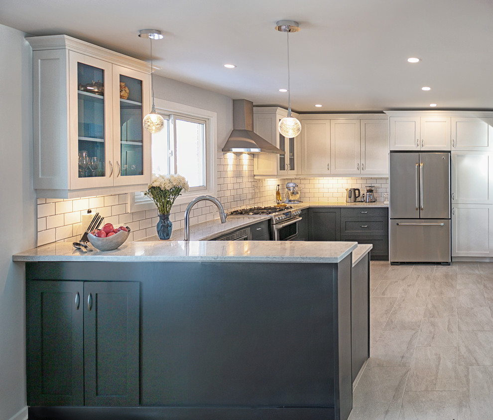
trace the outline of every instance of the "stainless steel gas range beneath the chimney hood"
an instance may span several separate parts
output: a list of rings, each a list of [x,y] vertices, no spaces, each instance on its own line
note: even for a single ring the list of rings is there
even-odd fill
[[[286,207],[250,207],[234,210],[228,216],[270,216],[270,240],[291,240],[298,236],[301,210]]]

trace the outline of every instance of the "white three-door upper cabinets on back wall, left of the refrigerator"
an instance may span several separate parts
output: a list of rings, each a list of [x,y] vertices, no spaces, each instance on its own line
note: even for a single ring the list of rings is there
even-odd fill
[[[300,120],[302,175],[388,176],[385,116],[304,114]]]

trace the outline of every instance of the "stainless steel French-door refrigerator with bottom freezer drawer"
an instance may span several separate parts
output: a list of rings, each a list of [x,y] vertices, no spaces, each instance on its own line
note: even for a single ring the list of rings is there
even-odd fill
[[[450,153],[390,152],[389,259],[450,263]]]

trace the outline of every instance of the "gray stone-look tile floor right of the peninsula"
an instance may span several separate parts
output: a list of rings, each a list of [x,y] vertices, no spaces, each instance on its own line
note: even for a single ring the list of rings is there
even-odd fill
[[[370,271],[370,359],[349,419],[493,419],[493,263]]]

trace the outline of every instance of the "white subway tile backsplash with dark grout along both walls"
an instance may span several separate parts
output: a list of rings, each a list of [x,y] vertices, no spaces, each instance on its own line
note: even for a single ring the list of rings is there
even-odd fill
[[[366,185],[374,185],[377,200],[382,200],[383,193],[388,193],[386,178],[255,179],[251,156],[238,157],[234,154],[218,152],[217,161],[217,197],[227,211],[251,206],[272,206],[275,204],[275,186],[280,186],[281,196],[284,198],[285,185],[290,181],[301,187],[302,201],[342,202],[346,198],[346,188],[359,188],[364,193]],[[157,209],[127,213],[127,194],[75,200],[39,199],[37,203],[38,245],[55,240],[72,240],[77,236],[80,238],[82,234],[80,212],[85,212],[87,209],[92,209],[93,213],[98,211],[105,217],[105,223],[129,226],[131,232],[128,240],[156,234]],[[170,219],[173,222],[173,229],[183,228],[187,205],[187,203],[175,205],[171,209]],[[218,217],[216,206],[209,202],[199,202],[191,213],[191,227],[193,229],[193,225],[198,222]]]

